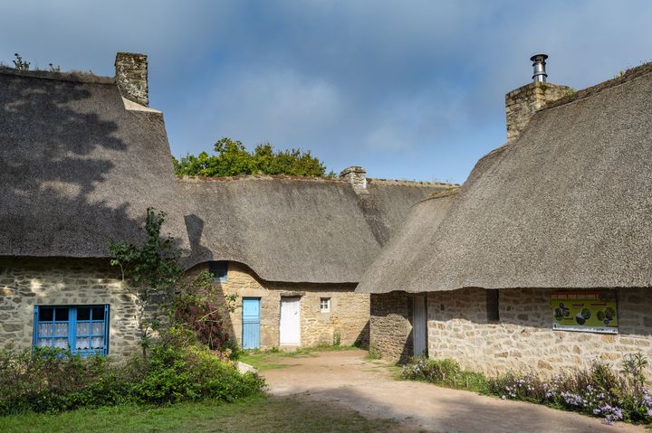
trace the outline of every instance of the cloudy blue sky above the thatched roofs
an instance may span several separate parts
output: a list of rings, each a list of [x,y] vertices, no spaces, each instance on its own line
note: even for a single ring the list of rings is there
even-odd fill
[[[113,75],[149,55],[172,153],[310,149],[339,172],[462,183],[505,140],[504,94],[581,89],[652,60],[648,1],[3,1],[0,61]]]

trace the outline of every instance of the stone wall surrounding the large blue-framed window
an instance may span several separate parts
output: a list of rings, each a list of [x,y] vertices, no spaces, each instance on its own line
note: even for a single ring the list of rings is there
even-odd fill
[[[104,304],[110,356],[139,353],[136,304],[108,259],[0,258],[0,347],[32,345],[34,306]]]

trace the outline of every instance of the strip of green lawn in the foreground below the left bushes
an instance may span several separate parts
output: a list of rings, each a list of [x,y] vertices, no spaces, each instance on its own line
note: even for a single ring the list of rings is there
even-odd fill
[[[295,398],[256,397],[235,403],[181,403],[164,408],[117,406],[62,414],[0,417],[0,431],[24,432],[391,432],[392,419],[366,419],[359,412]]]

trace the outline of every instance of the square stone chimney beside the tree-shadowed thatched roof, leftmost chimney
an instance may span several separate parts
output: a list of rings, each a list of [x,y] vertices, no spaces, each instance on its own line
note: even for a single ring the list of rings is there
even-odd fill
[[[140,105],[149,105],[147,56],[132,52],[116,54],[116,84],[120,95]]]

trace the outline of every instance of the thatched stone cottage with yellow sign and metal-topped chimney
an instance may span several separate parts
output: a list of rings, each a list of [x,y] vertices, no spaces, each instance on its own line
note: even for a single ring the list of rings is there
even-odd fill
[[[489,374],[652,357],[652,65],[506,105],[507,144],[419,202],[362,278],[370,346]]]

